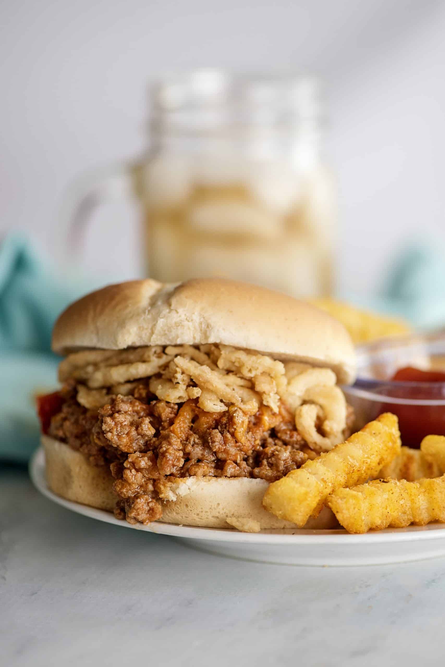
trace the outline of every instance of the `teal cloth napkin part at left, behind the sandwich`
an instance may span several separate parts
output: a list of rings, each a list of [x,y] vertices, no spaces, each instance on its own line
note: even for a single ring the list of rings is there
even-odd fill
[[[57,388],[51,330],[66,305],[94,289],[62,279],[17,235],[0,245],[0,460],[25,463],[39,442],[35,395]]]

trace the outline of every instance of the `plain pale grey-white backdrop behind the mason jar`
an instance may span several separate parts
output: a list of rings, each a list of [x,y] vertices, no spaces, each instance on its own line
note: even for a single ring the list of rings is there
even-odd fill
[[[159,71],[309,71],[327,82],[340,285],[370,291],[406,239],[445,241],[444,33],[443,0],[0,0],[1,231],[55,253],[67,183],[145,145]],[[131,277],[136,232],[116,215],[83,265]]]

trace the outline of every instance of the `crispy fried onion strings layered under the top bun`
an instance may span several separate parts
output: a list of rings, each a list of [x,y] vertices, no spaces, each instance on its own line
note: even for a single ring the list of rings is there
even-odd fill
[[[131,394],[145,378],[157,398],[171,403],[197,399],[205,412],[224,412],[228,404],[246,415],[254,415],[261,404],[278,412],[283,401],[314,452],[342,442],[346,427],[346,400],[332,370],[230,346],[84,350],[59,366],[59,379],[71,378],[77,381],[78,402],[89,410],[105,405],[110,394]]]

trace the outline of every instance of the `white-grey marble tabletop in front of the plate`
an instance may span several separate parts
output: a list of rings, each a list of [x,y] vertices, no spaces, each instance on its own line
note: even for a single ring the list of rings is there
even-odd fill
[[[8,667],[436,666],[445,559],[294,568],[121,530],[0,474],[0,662]]]

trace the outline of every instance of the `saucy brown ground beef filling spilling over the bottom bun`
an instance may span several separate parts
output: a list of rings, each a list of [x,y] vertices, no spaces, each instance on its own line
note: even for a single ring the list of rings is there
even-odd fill
[[[108,465],[119,500],[115,516],[148,524],[162,515],[160,499],[169,480],[196,477],[251,477],[274,482],[313,458],[284,404],[248,417],[236,406],[209,413],[196,400],[157,400],[141,384],[132,396],[110,396],[97,410],[81,406],[69,384],[63,406],[51,419],[49,435]],[[348,408],[348,431],[354,415]],[[347,435],[347,434],[346,434]]]

